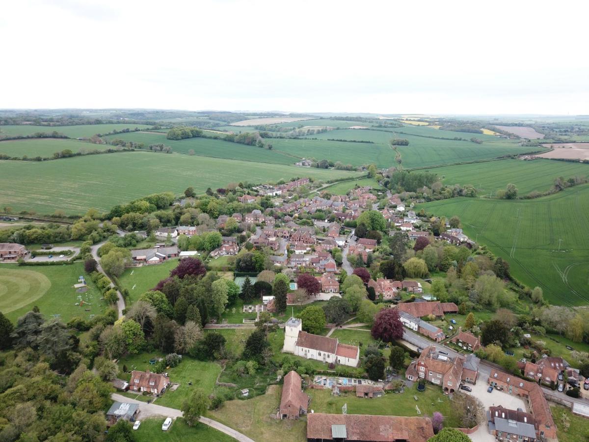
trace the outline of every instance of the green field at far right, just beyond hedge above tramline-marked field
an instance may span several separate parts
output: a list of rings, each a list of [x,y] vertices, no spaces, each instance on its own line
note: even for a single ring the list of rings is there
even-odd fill
[[[558,177],[589,176],[589,164],[550,160],[499,160],[485,163],[435,167],[432,173],[443,177],[444,184],[472,184],[479,194],[505,189],[515,184],[520,195],[532,190],[550,189]]]

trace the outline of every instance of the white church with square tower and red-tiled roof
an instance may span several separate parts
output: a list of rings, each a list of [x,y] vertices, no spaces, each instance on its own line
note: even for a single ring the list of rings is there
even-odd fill
[[[340,344],[337,339],[312,335],[302,331],[302,321],[290,318],[284,328],[282,351],[306,359],[316,359],[327,364],[342,364],[358,367],[360,349],[355,345]]]

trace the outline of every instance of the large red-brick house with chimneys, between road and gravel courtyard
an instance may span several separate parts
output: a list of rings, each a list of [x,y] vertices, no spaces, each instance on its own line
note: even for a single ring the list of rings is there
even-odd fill
[[[423,349],[419,357],[409,364],[405,376],[410,381],[425,379],[432,384],[440,385],[444,392],[452,393],[458,390],[461,381],[477,381],[479,359],[470,359],[471,368],[475,368],[476,374],[471,377],[470,371],[464,372],[466,358],[462,355],[452,357],[446,352],[437,351],[435,345]]]

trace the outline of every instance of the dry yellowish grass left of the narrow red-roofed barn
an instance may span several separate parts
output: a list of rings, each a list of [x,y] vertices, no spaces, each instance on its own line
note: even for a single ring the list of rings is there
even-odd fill
[[[270,417],[280,405],[280,385],[270,385],[266,394],[248,400],[227,401],[216,411],[209,411],[210,418],[219,421],[256,442],[304,442],[306,421],[278,420]]]

